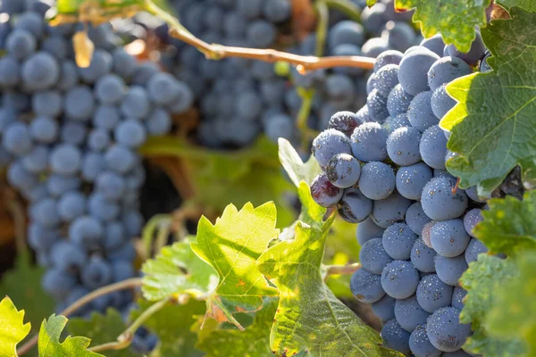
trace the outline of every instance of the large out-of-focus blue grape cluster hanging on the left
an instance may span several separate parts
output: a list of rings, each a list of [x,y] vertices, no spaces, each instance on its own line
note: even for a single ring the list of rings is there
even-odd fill
[[[29,245],[47,268],[42,284],[58,310],[98,287],[137,274],[131,238],[143,225],[145,179],[137,153],[147,136],[188,110],[184,83],[121,47],[109,25],[90,27],[95,51],[77,66],[73,35],[84,26],[50,27],[41,1],[2,2],[0,157],[9,183],[29,200]],[[124,309],[115,292],[80,310]]]

